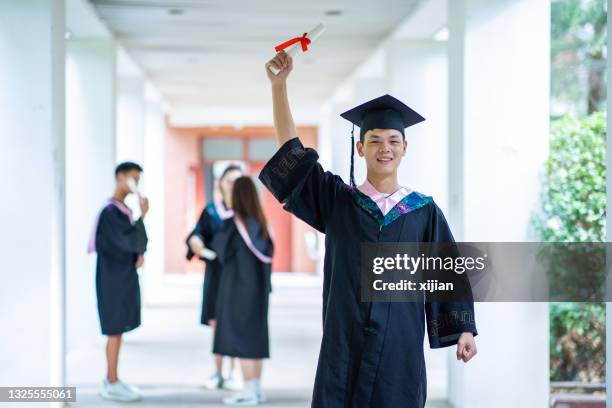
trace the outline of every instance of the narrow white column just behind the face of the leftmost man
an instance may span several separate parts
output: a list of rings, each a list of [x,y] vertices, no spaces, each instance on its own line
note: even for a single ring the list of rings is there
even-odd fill
[[[149,237],[145,255],[145,272],[141,275],[142,295],[145,303],[155,301],[160,293],[165,273],[165,140],[166,123],[159,95],[150,87],[145,91],[144,159],[142,191],[149,198],[150,210],[145,224]]]

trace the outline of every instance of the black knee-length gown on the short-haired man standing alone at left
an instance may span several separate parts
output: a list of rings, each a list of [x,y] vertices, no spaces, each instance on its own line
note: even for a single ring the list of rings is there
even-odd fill
[[[96,294],[102,334],[121,334],[140,326],[136,260],[146,249],[142,218],[132,225],[126,214],[107,205],[96,228]]]

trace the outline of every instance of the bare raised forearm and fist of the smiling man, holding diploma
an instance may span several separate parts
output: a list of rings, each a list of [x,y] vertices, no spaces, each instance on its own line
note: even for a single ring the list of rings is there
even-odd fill
[[[280,70],[274,75],[268,66],[274,66]],[[282,146],[290,139],[298,136],[287,95],[287,77],[293,70],[293,60],[285,51],[281,51],[266,63],[266,73],[272,85],[272,110],[274,114],[274,129],[276,141]]]

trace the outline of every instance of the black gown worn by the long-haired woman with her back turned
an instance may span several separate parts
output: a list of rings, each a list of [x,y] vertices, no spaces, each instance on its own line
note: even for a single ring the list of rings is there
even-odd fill
[[[271,239],[261,238],[261,226],[246,220],[253,245],[271,257]],[[217,328],[213,353],[239,358],[268,358],[268,298],[270,263],[251,252],[240,236],[234,218],[227,219],[215,234],[212,248],[223,265],[217,299]]]

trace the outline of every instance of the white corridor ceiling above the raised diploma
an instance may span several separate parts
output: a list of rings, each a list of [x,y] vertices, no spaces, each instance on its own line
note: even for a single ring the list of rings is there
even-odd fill
[[[319,106],[419,2],[90,1],[167,102],[186,108],[267,104],[263,66],[274,46],[322,22],[327,31],[296,61],[290,80],[295,104]]]

